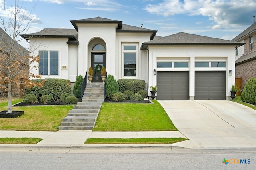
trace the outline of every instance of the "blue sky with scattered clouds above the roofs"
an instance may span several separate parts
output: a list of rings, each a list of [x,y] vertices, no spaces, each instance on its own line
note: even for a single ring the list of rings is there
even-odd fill
[[[158,36],[186,32],[232,40],[256,16],[256,0],[0,0],[0,16],[15,6],[27,16],[24,24],[31,20],[27,33],[74,28],[70,20],[100,16],[132,26],[143,24],[157,30]]]

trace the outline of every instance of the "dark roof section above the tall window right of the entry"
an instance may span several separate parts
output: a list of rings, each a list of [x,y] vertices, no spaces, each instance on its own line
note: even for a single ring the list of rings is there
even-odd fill
[[[116,32],[149,32],[152,33],[150,36],[150,40],[153,40],[157,31],[123,24],[123,27],[116,29]]]

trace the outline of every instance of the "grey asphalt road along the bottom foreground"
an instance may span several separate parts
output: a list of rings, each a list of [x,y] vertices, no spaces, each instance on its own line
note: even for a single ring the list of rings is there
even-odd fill
[[[223,159],[230,160],[225,165]],[[243,163],[237,163],[242,159]],[[244,160],[246,160],[244,162]],[[249,163],[250,162],[250,163]],[[255,150],[178,153],[1,153],[1,170],[254,170]]]

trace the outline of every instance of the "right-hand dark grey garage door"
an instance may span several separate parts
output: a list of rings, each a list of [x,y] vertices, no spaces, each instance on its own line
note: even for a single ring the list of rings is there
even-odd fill
[[[194,100],[225,100],[225,71],[196,71]]]

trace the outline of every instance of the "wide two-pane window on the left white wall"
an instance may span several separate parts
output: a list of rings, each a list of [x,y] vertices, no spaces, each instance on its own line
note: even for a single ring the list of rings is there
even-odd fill
[[[59,51],[39,51],[39,74],[59,75]]]

